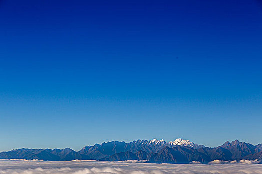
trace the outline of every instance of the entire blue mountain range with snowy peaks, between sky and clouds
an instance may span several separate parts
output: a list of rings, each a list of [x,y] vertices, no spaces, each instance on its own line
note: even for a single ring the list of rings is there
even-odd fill
[[[181,138],[175,141],[136,140],[132,142],[111,141],[86,146],[80,151],[65,149],[15,149],[1,152],[0,159],[38,159],[47,161],[68,160],[147,160],[149,163],[190,163],[203,164],[213,160],[259,160],[262,163],[262,144],[252,145],[238,140],[225,142],[210,148]]]

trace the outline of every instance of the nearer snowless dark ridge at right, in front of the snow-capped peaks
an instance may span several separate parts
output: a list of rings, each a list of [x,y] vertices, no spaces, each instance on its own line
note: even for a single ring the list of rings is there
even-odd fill
[[[256,146],[236,140],[231,143],[226,142],[216,148],[202,147],[197,149],[189,146],[165,146],[157,153],[150,152],[147,155],[143,154],[143,156],[138,156],[136,153],[121,152],[101,160],[118,161],[147,159],[149,160],[148,162],[151,163],[190,163],[192,161],[208,163],[213,160],[262,160],[261,158],[262,151]]]

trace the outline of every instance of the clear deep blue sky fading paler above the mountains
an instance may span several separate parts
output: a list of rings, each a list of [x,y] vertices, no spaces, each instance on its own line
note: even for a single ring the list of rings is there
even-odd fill
[[[0,151],[262,143],[259,0],[0,0]]]

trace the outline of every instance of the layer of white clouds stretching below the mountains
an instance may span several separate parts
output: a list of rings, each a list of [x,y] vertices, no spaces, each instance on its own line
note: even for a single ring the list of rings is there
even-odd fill
[[[0,160],[0,174],[262,174],[257,161],[213,161],[212,164],[150,164],[144,161]],[[253,164],[255,163],[255,164]]]

